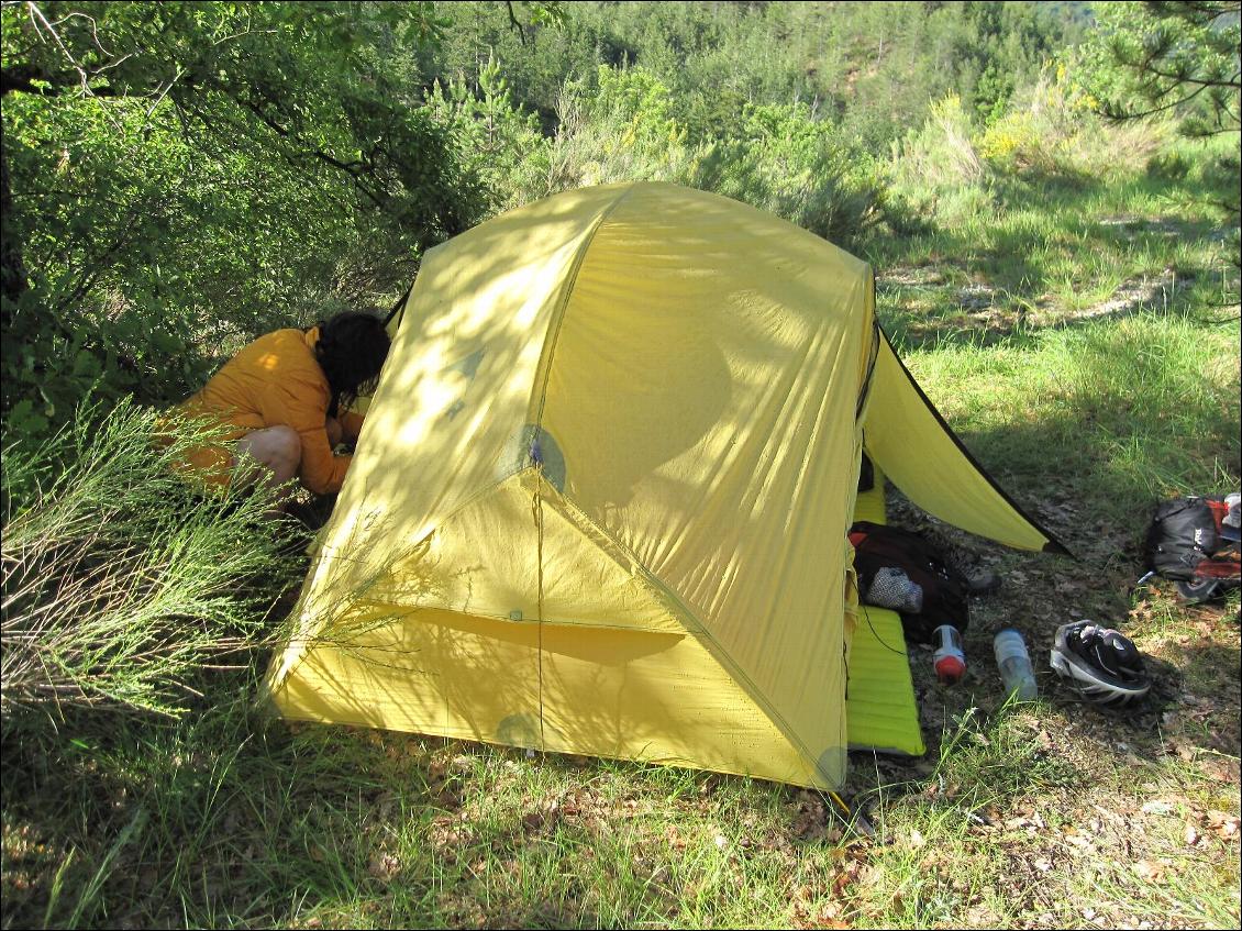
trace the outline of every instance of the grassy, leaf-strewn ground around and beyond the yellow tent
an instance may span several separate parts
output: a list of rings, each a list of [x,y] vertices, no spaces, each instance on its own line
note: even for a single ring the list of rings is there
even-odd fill
[[[912,370],[1079,560],[897,497],[895,519],[1005,586],[972,612],[959,686],[910,652],[928,756],[852,756],[872,835],[787,786],[273,721],[247,614],[241,668],[160,693],[169,714],[5,719],[4,927],[1237,926],[1240,597],[1135,586],[1154,500],[1242,475],[1238,326],[1213,323],[1236,279],[1213,271],[1218,215],[1182,199],[1192,171],[1172,175],[971,187],[873,246]],[[1194,281],[1143,289],[1165,269]],[[1042,650],[1078,617],[1149,657],[1138,714],[1057,688]],[[1041,685],[1017,708],[990,662],[1010,624]]]

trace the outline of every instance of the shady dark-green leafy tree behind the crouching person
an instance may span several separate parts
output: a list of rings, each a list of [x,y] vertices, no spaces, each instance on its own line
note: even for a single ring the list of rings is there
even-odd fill
[[[0,15],[7,427],[92,390],[175,397],[230,336],[390,293],[483,210],[391,66],[441,35],[427,2]],[[345,287],[366,252],[385,271]]]

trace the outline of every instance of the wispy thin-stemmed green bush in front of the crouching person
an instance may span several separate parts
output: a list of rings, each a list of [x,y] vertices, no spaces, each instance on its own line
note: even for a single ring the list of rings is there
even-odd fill
[[[171,466],[211,439],[122,402],[4,451],[7,721],[66,706],[176,715],[193,681],[252,645],[288,583],[267,495],[200,495]]]

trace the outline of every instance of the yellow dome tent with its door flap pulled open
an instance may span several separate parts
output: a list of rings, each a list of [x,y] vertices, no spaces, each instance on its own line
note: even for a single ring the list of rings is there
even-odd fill
[[[422,263],[270,694],[825,788],[851,744],[922,752],[904,650],[863,662],[904,648],[895,616],[858,623],[864,427],[929,511],[1052,544],[918,391],[853,256],[668,184],[491,220]]]

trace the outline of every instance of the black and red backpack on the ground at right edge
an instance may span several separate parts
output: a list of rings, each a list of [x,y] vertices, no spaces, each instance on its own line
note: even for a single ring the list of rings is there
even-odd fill
[[[1242,578],[1242,561],[1238,529],[1227,523],[1228,515],[1230,501],[1225,498],[1161,501],[1143,544],[1148,569],[1177,582],[1182,596],[1194,601],[1236,588]]]

